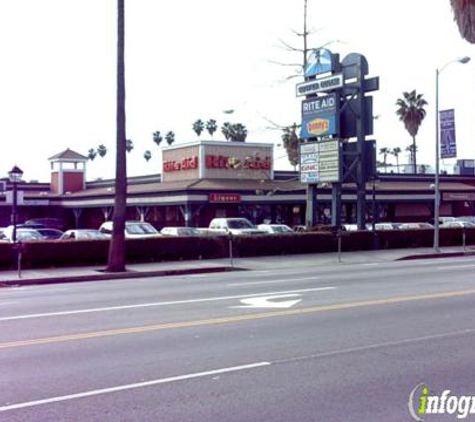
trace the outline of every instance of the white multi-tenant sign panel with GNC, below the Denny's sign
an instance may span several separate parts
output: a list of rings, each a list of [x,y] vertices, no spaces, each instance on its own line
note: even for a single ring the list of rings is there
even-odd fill
[[[300,145],[300,181],[336,183],[340,181],[340,141]]]

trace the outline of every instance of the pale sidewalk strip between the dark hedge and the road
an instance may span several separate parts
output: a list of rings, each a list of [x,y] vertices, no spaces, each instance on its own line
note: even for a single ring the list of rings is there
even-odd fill
[[[105,273],[104,266],[42,268],[23,270],[21,272],[21,278],[19,277],[17,271],[0,271],[0,287],[42,283],[65,283],[186,275],[232,270],[269,270],[291,268],[296,266],[302,268],[335,264],[351,265],[397,261],[401,259],[429,259],[474,255],[474,247],[467,247],[465,253],[462,247],[446,247],[441,248],[440,253],[434,253],[433,248],[343,252],[341,254],[341,262],[338,261],[338,254],[336,252],[331,252],[305,255],[234,258],[232,265],[230,259],[228,258],[200,261],[195,260],[130,264],[127,265],[127,272],[125,273]]]

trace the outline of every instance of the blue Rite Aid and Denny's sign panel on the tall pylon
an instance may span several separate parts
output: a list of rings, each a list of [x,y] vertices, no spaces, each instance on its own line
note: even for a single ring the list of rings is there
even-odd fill
[[[302,101],[303,139],[329,136],[338,133],[336,94],[315,97]]]

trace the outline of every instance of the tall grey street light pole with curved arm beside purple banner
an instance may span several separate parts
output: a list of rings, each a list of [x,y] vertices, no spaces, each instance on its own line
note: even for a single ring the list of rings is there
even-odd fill
[[[440,158],[440,131],[439,131],[439,75],[451,63],[466,64],[470,57],[461,57],[451,60],[439,69],[435,70],[435,178],[434,178],[434,249],[440,252],[439,241],[439,217],[440,217],[440,181],[439,181],[439,158]]]

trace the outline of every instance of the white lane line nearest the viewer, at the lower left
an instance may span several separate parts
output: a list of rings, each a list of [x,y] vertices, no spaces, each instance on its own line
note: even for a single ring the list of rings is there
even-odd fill
[[[103,388],[100,390],[84,391],[82,393],[69,394],[66,396],[57,396],[57,397],[50,397],[43,400],[34,400],[34,401],[29,401],[29,402],[24,402],[24,403],[10,404],[7,406],[0,407],[0,412],[7,412],[11,410],[16,410],[16,409],[25,409],[27,407],[35,407],[35,406],[41,406],[45,404],[58,403],[62,401],[82,399],[85,397],[99,396],[103,394],[117,393],[119,391],[127,391],[127,390],[133,390],[137,388],[151,387],[154,385],[167,384],[167,383],[177,382],[177,381],[185,381],[185,380],[190,380],[194,378],[202,378],[202,377],[209,377],[212,375],[228,374],[231,372],[245,371],[248,369],[255,369],[255,368],[260,368],[260,367],[269,366],[269,365],[272,365],[272,363],[271,362],[257,362],[257,363],[251,363],[248,365],[233,366],[229,368],[215,369],[212,371],[196,372],[194,374],[179,375],[176,377],[161,378],[161,379],[156,379],[152,381],[138,382],[135,384],[119,385],[117,387]]]

